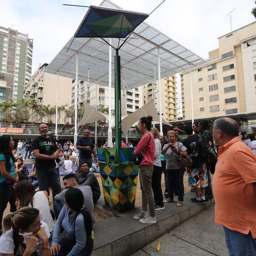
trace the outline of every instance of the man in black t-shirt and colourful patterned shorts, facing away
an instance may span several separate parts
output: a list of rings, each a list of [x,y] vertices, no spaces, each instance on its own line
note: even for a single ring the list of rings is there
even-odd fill
[[[199,159],[198,141],[200,137],[193,134],[191,125],[186,125],[184,131],[188,138],[182,140],[182,143],[187,148],[188,155],[193,161],[192,166],[188,167],[188,184],[194,188],[196,193],[196,197],[190,200],[197,204],[206,203],[208,199],[205,198],[205,188],[208,185],[208,176],[206,164],[201,163]]]

